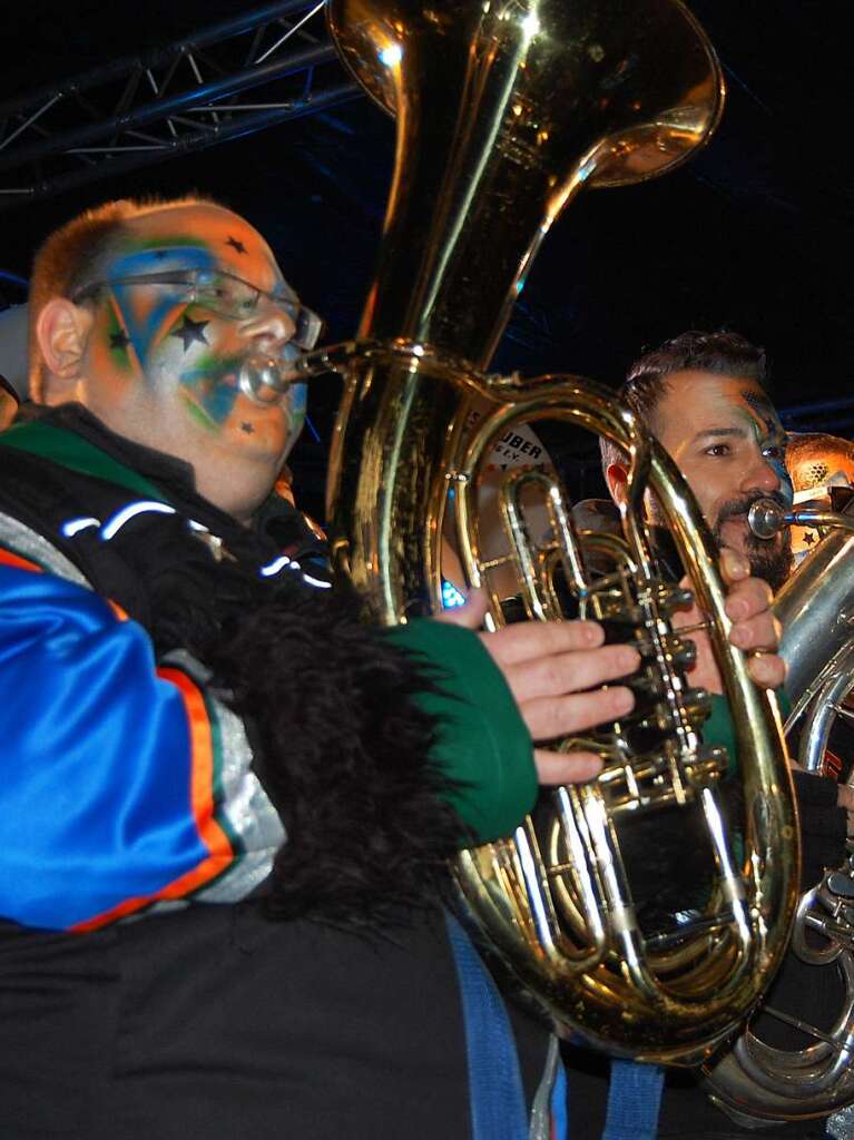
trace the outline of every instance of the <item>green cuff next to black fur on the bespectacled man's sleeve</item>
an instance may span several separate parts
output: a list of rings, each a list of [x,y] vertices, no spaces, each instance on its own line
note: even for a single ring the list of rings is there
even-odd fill
[[[388,632],[437,670],[437,693],[418,695],[434,716],[434,759],[456,787],[447,799],[478,842],[510,834],[530,812],[537,773],[530,734],[477,634],[421,619]]]

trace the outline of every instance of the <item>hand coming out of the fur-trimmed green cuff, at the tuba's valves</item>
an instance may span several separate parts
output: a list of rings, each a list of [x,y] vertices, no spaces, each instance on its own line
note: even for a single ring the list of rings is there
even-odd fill
[[[486,608],[483,594],[474,592],[467,605],[446,610],[439,620],[478,629]],[[595,621],[520,621],[481,638],[535,742],[586,732],[634,707],[634,694],[625,685],[603,686],[634,673],[640,656],[629,645],[604,645]],[[534,760],[539,782],[546,784],[580,783],[602,768],[592,752],[535,748]]]

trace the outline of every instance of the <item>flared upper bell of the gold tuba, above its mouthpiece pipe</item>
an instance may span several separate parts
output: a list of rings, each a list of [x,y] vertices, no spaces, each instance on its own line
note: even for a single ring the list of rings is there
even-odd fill
[[[332,0],[330,26],[398,121],[359,336],[478,367],[567,202],[678,165],[723,107],[716,57],[673,0]]]

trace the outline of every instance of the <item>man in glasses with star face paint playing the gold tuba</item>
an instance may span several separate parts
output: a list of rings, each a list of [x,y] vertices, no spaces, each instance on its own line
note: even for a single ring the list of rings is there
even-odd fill
[[[515,1140],[534,1105],[545,1138],[553,1047],[445,865],[599,769],[531,740],[625,715],[636,653],[592,622],[480,637],[480,601],[360,622],[271,495],[304,393],[242,383],[319,323],[230,211],[89,212],[30,307],[39,414],[0,435],[3,1137]]]

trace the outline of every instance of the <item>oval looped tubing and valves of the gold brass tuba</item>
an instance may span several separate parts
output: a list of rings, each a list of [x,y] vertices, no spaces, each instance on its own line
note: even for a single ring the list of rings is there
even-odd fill
[[[640,720],[567,742],[600,752],[601,775],[552,793],[545,826],[527,820],[512,839],[463,853],[457,881],[478,922],[560,1032],[580,1032],[610,1052],[646,1060],[698,1060],[755,1003],[786,946],[797,844],[779,725],[726,640],[711,542],[668,457],[631,413],[589,382],[543,377],[520,383],[517,391],[505,385],[503,396],[504,407],[479,424],[456,471],[457,542],[470,580],[479,585],[489,577],[479,557],[472,507],[490,442],[522,412],[526,423],[563,421],[611,439],[631,458],[633,506],[624,513],[621,538],[607,536],[602,543],[603,536],[575,534],[561,489],[537,473],[514,475],[506,488],[506,522],[529,614],[561,618],[552,585],[556,554],[580,614],[623,624],[625,640],[641,648],[637,684],[646,701]],[[529,481],[544,484],[553,523],[552,542],[540,542],[536,553],[518,510],[519,484]],[[711,618],[739,752],[753,758],[741,772],[749,811],[740,860],[717,791],[726,755],[702,743],[707,695],[690,687],[684,667],[691,656],[670,624],[682,591],[661,580],[650,553],[640,510],[648,487],[661,503],[699,604]],[[596,573],[586,567],[591,547],[609,560]],[[646,739],[652,731],[652,743],[640,752],[632,750],[639,727]],[[692,804],[705,820],[714,886],[669,930],[645,934],[616,828],[626,816]],[[689,832],[685,841],[700,837]]]

